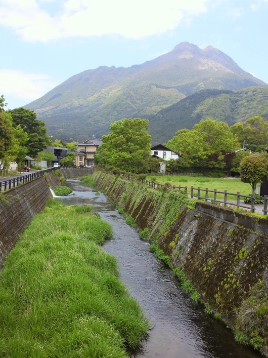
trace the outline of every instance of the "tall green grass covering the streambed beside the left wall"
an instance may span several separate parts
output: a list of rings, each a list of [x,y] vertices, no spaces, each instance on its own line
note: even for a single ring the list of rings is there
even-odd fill
[[[0,356],[127,357],[148,320],[102,250],[111,226],[89,206],[48,203],[7,256],[0,281]]]

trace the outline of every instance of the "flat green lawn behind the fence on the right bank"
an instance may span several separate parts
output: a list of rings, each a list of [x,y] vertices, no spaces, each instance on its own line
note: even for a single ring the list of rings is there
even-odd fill
[[[147,176],[146,179],[150,180],[152,176]],[[171,186],[188,187],[188,193],[191,192],[191,186],[194,188],[200,187],[201,189],[208,188],[209,190],[217,189],[217,191],[224,192],[227,190],[229,193],[236,194],[240,191],[243,195],[249,195],[252,192],[251,186],[248,183],[243,183],[240,178],[209,178],[209,177],[190,177],[190,176],[173,176],[173,175],[153,175],[156,178],[156,183],[170,183]],[[194,191],[197,194],[197,190]],[[209,193],[209,197],[213,198],[213,192]],[[205,192],[201,192],[201,196],[205,196]],[[223,199],[224,194],[217,194],[218,199]],[[228,200],[236,200],[233,195],[228,196]],[[242,200],[242,199],[241,199]]]

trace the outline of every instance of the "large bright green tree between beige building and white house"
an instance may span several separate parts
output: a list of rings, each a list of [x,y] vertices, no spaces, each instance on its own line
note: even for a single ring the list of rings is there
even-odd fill
[[[95,154],[97,163],[132,173],[146,172],[151,157],[151,136],[147,120],[125,118],[110,125],[108,135]]]

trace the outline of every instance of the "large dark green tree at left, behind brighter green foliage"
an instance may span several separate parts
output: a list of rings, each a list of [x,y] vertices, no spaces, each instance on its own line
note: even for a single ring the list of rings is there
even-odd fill
[[[47,135],[47,128],[44,122],[36,120],[36,113],[23,107],[15,108],[8,111],[13,118],[13,125],[20,125],[28,134],[26,146],[28,153],[32,157],[36,157],[37,153],[47,148],[51,143],[50,137]]]

